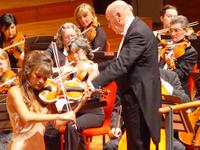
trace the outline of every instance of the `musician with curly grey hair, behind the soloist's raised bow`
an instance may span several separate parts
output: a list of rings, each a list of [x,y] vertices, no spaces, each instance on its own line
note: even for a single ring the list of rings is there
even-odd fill
[[[61,72],[69,72],[71,71],[71,67],[69,64],[68,57],[68,43],[75,37],[82,36],[81,31],[78,29],[76,25],[73,23],[64,23],[58,29],[55,35],[55,42],[58,49],[58,61],[61,66]],[[54,61],[54,67],[56,66],[56,61],[54,57],[54,52],[52,45],[50,44],[48,49],[46,50],[51,55]],[[56,70],[56,69],[55,69]]]

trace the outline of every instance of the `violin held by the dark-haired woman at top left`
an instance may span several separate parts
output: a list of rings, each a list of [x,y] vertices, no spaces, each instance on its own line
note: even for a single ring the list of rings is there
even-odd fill
[[[17,59],[17,67],[22,67],[25,38],[18,33],[13,39],[4,42],[3,50]]]

